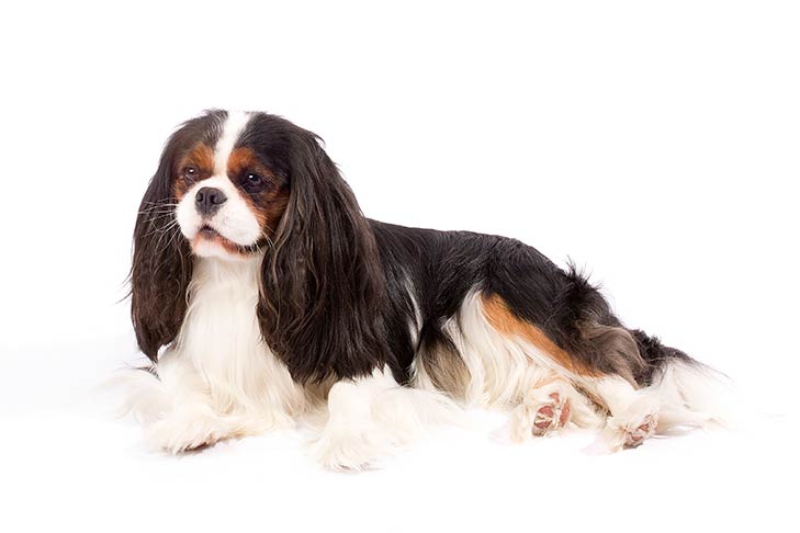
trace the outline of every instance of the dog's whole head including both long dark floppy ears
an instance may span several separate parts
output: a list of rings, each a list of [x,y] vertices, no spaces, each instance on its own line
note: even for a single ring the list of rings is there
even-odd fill
[[[256,254],[273,350],[341,352],[337,333],[314,329],[363,329],[353,320],[382,294],[369,223],[320,139],[275,115],[210,111],[170,137],[139,208],[131,281],[142,351],[155,361],[177,337],[198,258]],[[312,366],[290,370],[307,378]]]

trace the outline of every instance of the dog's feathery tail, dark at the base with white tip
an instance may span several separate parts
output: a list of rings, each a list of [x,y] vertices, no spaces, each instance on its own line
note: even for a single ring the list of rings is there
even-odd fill
[[[739,398],[728,376],[641,330],[630,333],[647,365],[642,385],[661,404],[660,433],[739,424]]]

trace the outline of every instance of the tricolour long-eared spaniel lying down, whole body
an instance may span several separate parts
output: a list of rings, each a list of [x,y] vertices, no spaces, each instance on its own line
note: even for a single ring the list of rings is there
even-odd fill
[[[316,420],[312,454],[360,468],[464,406],[508,408],[515,441],[594,428],[611,450],[716,420],[709,368],[575,269],[364,217],[320,138],[275,115],[214,110],[170,137],[131,286],[151,365],[128,407],[172,453]]]

